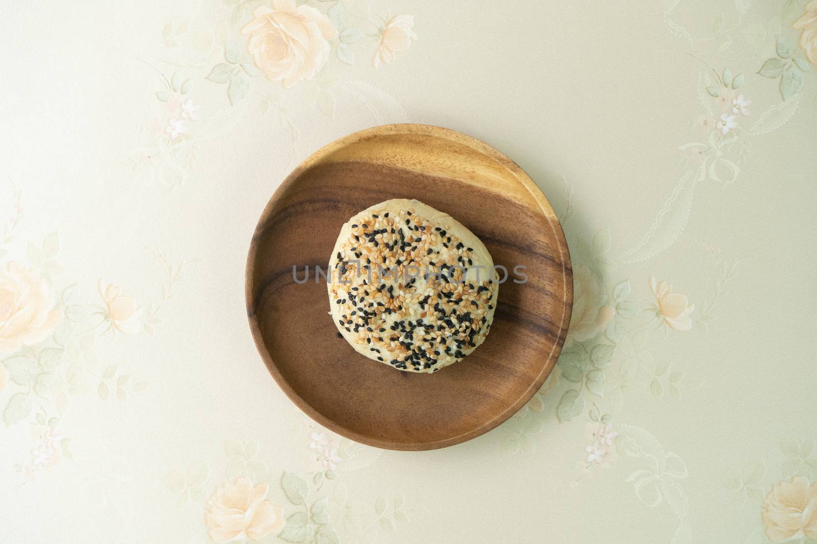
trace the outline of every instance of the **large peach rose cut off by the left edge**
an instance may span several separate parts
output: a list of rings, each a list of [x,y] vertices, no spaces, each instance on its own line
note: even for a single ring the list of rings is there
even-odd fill
[[[0,353],[44,340],[62,316],[54,309],[48,284],[31,268],[0,268]]]

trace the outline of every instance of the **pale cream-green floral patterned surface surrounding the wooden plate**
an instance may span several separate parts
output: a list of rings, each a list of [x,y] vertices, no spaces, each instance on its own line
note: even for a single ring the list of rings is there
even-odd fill
[[[817,1],[4,15],[4,542],[817,542]],[[311,422],[243,307],[279,180],[392,122],[518,161],[574,259],[542,390],[431,452]]]

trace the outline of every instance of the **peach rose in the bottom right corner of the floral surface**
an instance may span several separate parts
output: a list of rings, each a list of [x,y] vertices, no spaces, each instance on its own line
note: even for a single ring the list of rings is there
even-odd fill
[[[778,482],[766,495],[761,516],[766,535],[773,542],[817,538],[817,484],[809,485],[803,476]]]

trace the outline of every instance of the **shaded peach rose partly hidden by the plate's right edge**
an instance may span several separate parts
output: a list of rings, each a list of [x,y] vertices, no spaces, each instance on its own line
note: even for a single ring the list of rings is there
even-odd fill
[[[568,338],[582,342],[599,334],[613,319],[614,311],[606,304],[601,282],[586,266],[580,264],[573,269],[573,285],[573,316]]]

